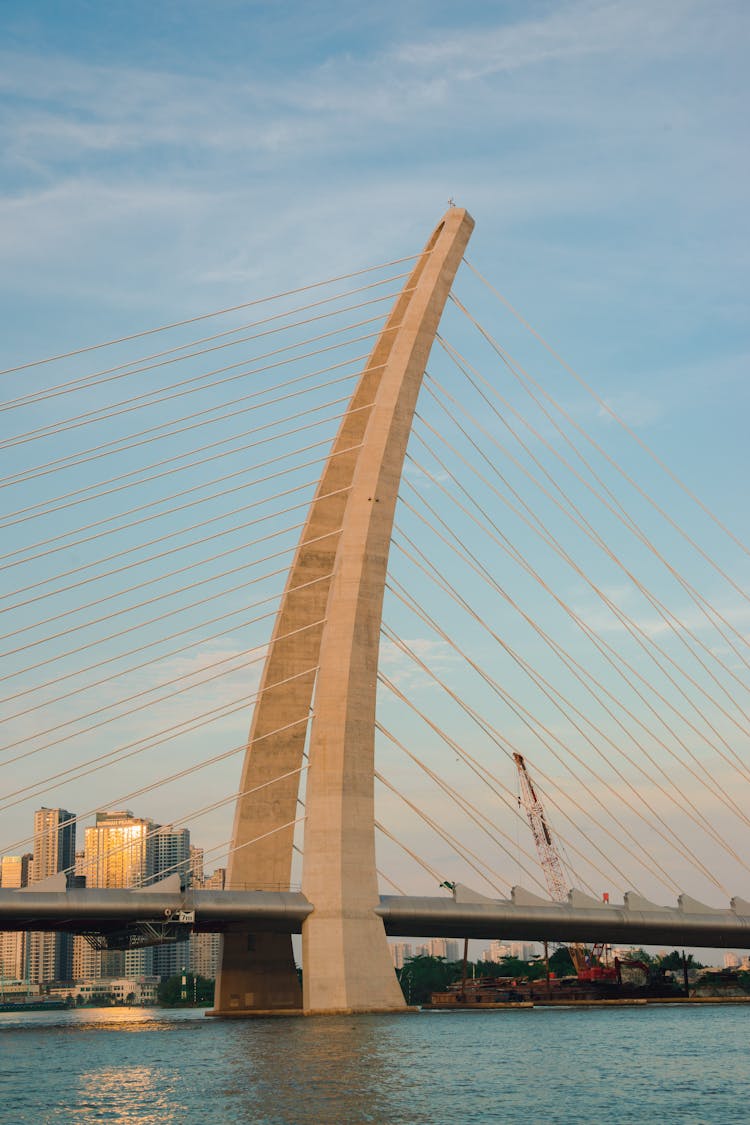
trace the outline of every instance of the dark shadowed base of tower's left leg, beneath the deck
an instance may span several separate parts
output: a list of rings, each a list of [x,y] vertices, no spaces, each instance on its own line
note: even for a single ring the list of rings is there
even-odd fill
[[[290,934],[232,929],[224,934],[214,1008],[209,1016],[301,1011],[302,990]]]

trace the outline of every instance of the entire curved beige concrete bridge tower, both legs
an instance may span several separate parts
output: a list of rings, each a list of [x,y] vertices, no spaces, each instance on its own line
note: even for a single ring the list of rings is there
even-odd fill
[[[216,1015],[404,1007],[374,914],[380,620],[417,394],[472,228],[462,208],[443,216],[360,377],[289,572],[253,713],[227,888],[289,889],[309,723],[304,994],[290,936],[238,927],[224,936]]]

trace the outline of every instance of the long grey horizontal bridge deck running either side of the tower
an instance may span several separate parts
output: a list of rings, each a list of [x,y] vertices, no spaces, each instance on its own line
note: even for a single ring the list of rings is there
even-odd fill
[[[473,937],[526,940],[616,942],[750,948],[750,903],[733,899],[717,910],[693,900],[659,907],[635,896],[623,903],[593,900],[544,902],[532,896],[471,901],[385,896],[378,914],[392,937]],[[195,928],[222,932],[233,925],[265,932],[301,932],[313,907],[300,892],[165,890],[0,890],[0,930],[45,929],[108,934],[144,920],[195,911]]]

